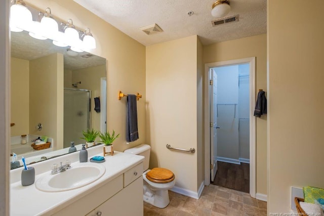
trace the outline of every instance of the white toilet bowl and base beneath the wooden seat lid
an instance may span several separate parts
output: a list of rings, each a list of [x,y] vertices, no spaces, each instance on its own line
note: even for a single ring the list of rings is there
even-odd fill
[[[144,185],[143,200],[155,207],[165,208],[169,205],[169,190],[152,191],[147,185]]]

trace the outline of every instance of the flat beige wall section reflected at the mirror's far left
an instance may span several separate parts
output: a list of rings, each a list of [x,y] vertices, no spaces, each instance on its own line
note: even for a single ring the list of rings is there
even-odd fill
[[[29,61],[11,58],[11,136],[29,134]]]

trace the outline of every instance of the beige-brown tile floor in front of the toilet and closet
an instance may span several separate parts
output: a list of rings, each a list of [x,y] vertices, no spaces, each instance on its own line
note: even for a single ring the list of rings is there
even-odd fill
[[[204,188],[200,198],[193,199],[169,191],[170,204],[166,208],[157,208],[144,202],[144,215],[267,215],[267,203],[254,199],[248,193],[210,185]]]

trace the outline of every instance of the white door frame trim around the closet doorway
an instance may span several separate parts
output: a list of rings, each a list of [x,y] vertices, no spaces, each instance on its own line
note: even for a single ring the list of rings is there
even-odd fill
[[[210,88],[209,88],[209,71],[210,68],[219,66],[230,66],[238,64],[250,64],[250,195],[256,197],[256,118],[254,114],[254,106],[256,103],[256,57],[234,59],[221,62],[213,62],[205,64],[204,71],[204,149],[205,149],[205,185],[210,185]]]

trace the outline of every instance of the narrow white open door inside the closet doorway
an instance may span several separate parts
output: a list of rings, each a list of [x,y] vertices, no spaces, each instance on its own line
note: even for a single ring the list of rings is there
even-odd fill
[[[214,182],[217,171],[217,74],[210,70],[210,110],[211,110],[211,181]]]

